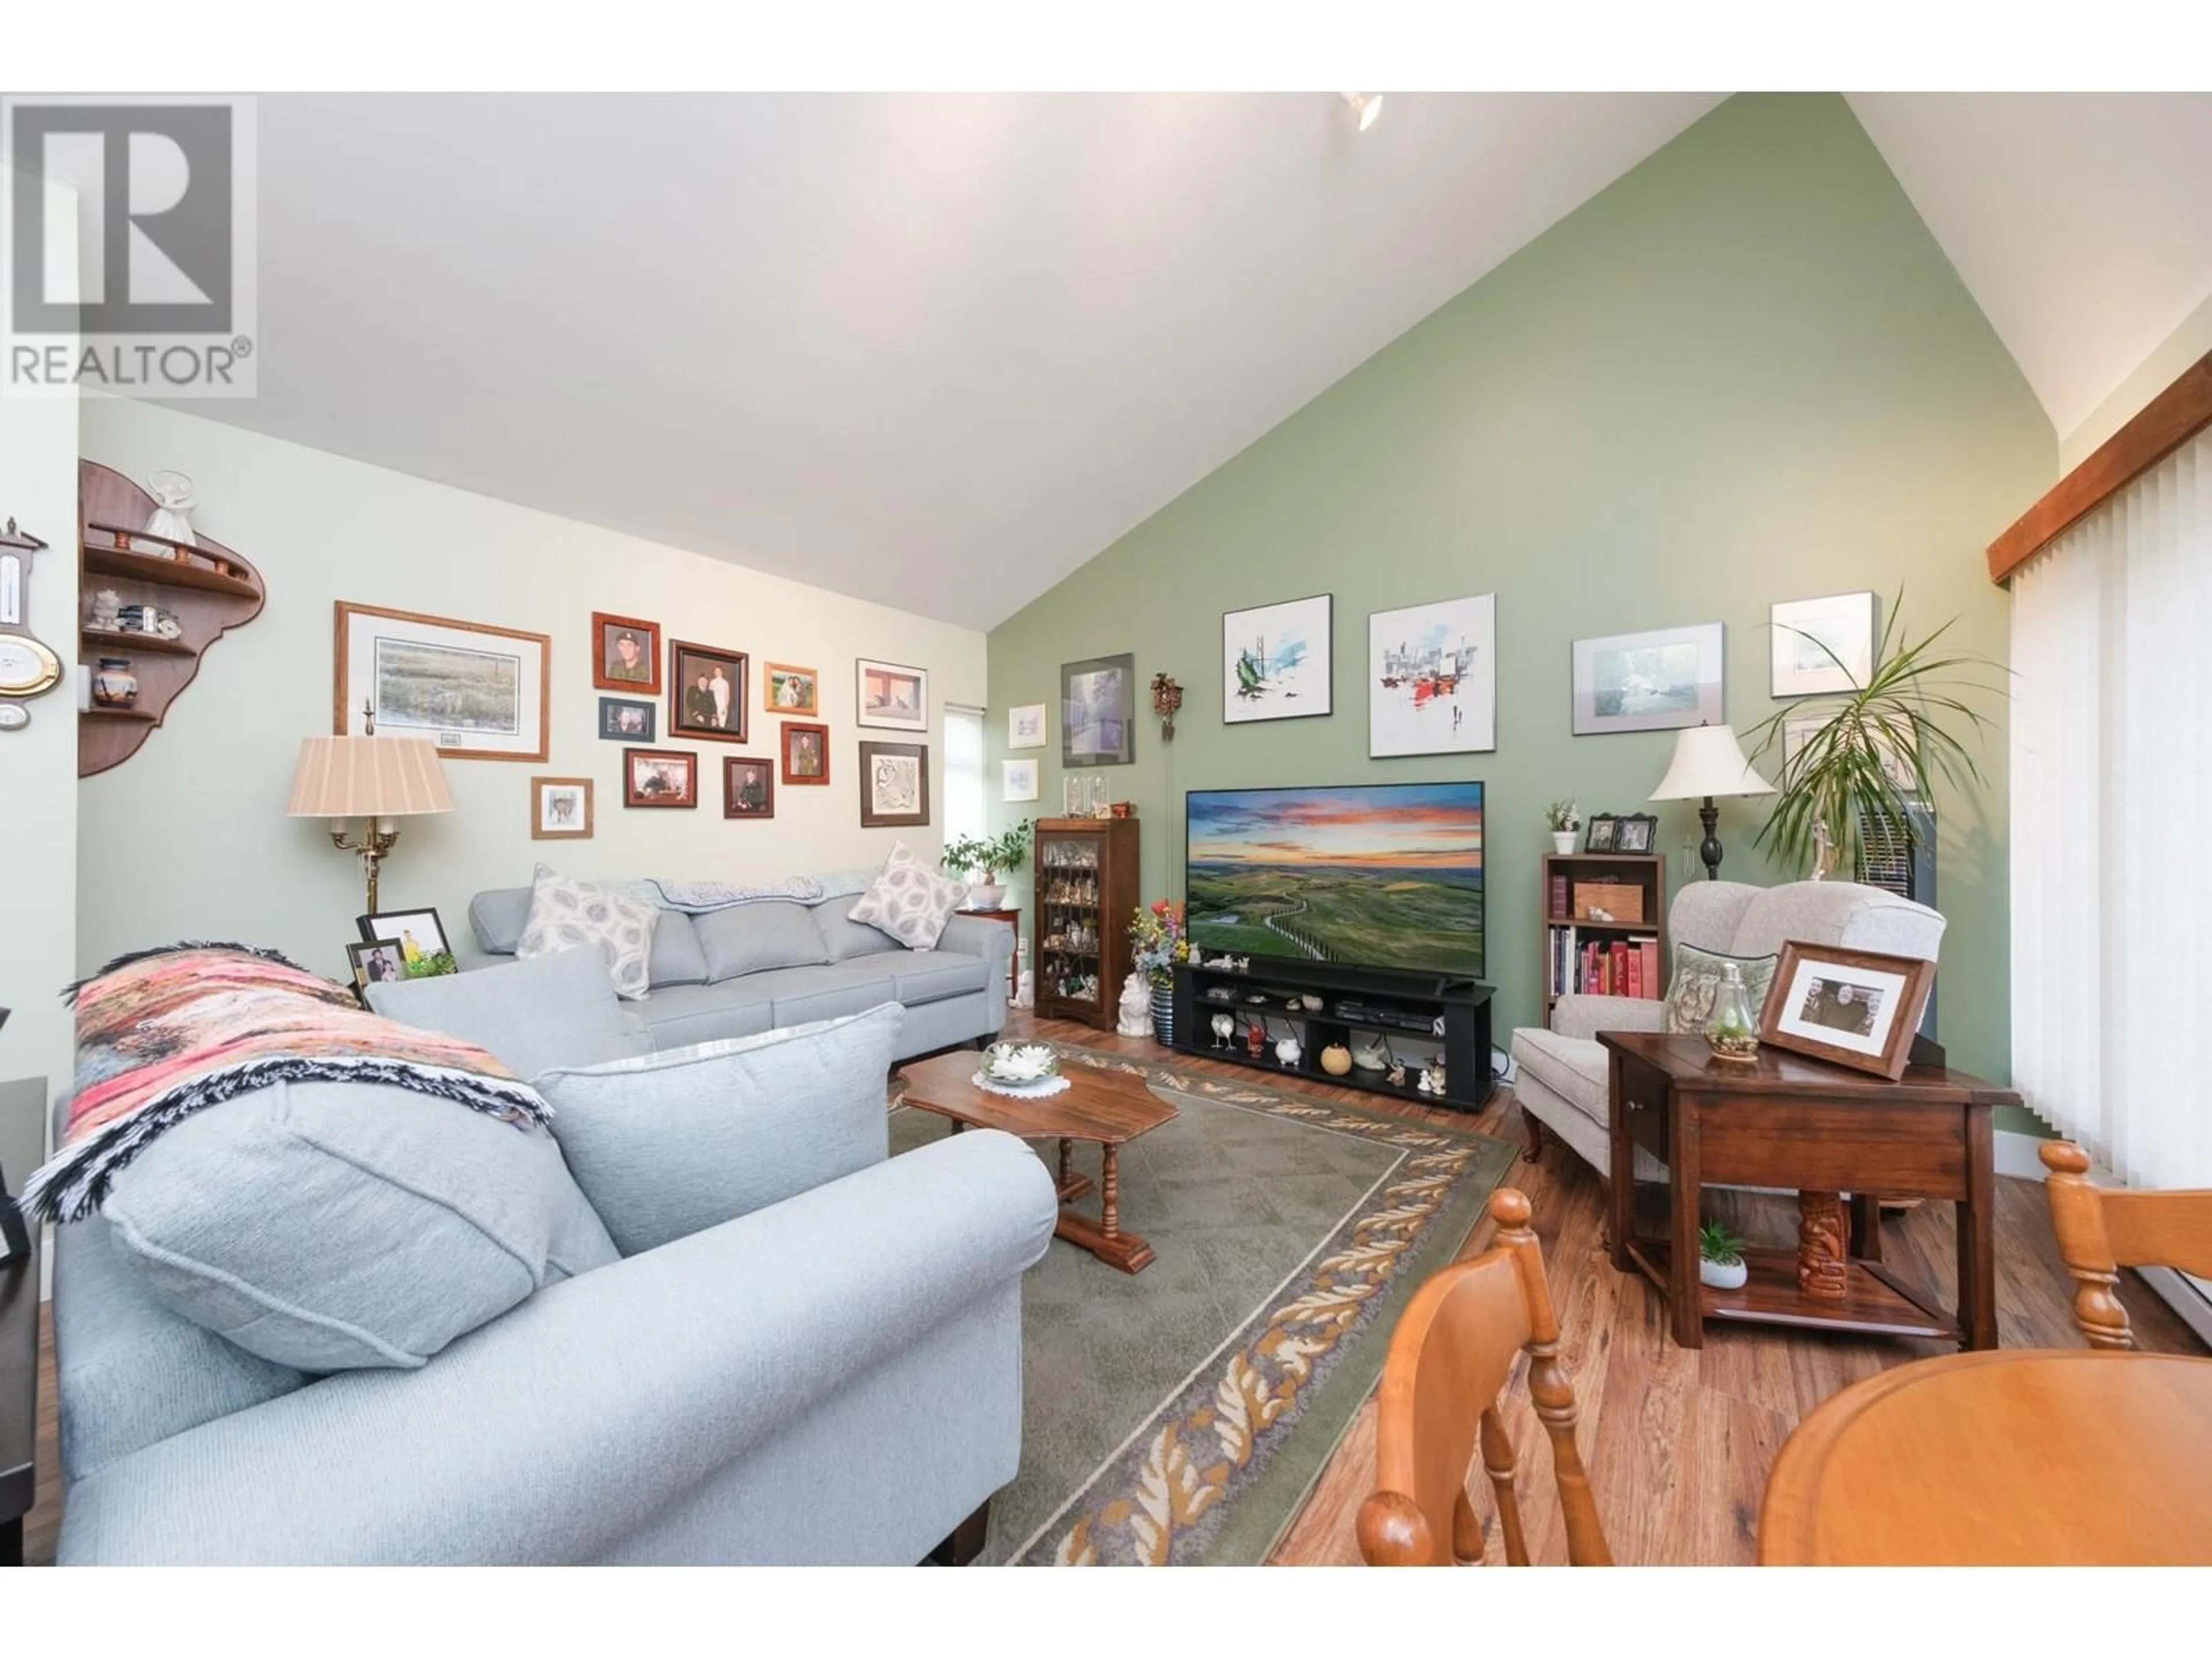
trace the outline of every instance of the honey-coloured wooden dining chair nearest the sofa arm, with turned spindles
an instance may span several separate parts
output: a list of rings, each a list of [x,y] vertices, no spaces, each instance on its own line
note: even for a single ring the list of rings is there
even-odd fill
[[[1513,1356],[1528,1354],[1528,1396],[1551,1436],[1551,1471],[1566,1513],[1575,1566],[1613,1566],[1597,1524],[1590,1478],[1575,1451],[1575,1389],[1559,1363],[1559,1321],[1544,1283],[1544,1254],[1528,1232],[1528,1199],[1491,1194],[1498,1243],[1458,1261],[1413,1292],[1383,1363],[1376,1398],[1376,1491],[1360,1504],[1360,1555],[1369,1566],[1451,1566],[1482,1559],[1482,1522],[1467,1500],[1475,1440],[1498,1493],[1506,1562],[1528,1564],[1515,1495],[1513,1438],[1498,1396]]]

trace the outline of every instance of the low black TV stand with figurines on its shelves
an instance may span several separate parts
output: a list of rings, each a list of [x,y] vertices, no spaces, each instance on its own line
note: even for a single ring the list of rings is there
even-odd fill
[[[1345,967],[1296,958],[1241,958],[1243,969],[1181,962],[1175,969],[1175,1048],[1206,1060],[1234,1060],[1254,1071],[1290,1073],[1323,1084],[1365,1088],[1416,1106],[1475,1113],[1495,1091],[1491,1075],[1491,987],[1455,973],[1411,969]],[[1316,998],[1318,1009],[1305,1006]],[[1237,1020],[1228,1044],[1214,1035],[1214,1015]],[[1263,1026],[1265,1042],[1252,1053],[1248,1031]],[[1279,1037],[1294,1035],[1301,1053],[1294,1066],[1274,1055]],[[1385,1057],[1405,1064],[1405,1082],[1387,1071],[1354,1066],[1332,1077],[1321,1051],[1343,1044],[1358,1053],[1376,1037]],[[1444,1093],[1422,1093],[1422,1068],[1444,1055]]]

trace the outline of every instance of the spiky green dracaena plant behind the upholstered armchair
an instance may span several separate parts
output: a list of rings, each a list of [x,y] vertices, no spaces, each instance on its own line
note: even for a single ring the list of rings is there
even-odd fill
[[[1747,732],[1754,754],[1763,757],[1776,745],[1783,750],[1774,812],[1761,825],[1756,843],[1772,843],[1776,854],[1807,869],[1814,880],[1838,867],[1863,878],[1869,854],[1909,856],[1920,834],[1913,807],[1933,801],[1936,783],[1958,790],[1982,783],[1982,768],[1960,739],[1980,737],[1989,721],[1962,692],[1993,688],[1964,675],[2004,670],[1986,657],[1938,650],[1951,622],[1922,639],[1907,639],[1902,604],[1900,588],[1882,619],[1865,686],[1801,697]],[[1820,646],[1838,668],[1845,666],[1825,639],[1803,637]],[[1818,726],[1807,728],[1809,719],[1818,719]],[[1798,726],[1794,752],[1792,726]]]

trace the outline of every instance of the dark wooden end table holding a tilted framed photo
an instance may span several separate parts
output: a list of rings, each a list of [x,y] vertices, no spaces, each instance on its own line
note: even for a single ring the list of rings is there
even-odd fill
[[[1681,1347],[1703,1347],[1708,1318],[1997,1345],[1991,1110],[2020,1095],[1942,1066],[1909,1066],[1889,1082],[1778,1048],[1717,1060],[1703,1037],[1597,1040],[1613,1057],[1613,1265],[1659,1285]],[[1668,1166],[1663,1239],[1635,1232],[1639,1146]],[[1697,1274],[1708,1181],[1798,1190],[1796,1250],[1745,1250],[1739,1290]],[[1958,1206],[1955,1312],[1882,1265],[1880,1199]]]

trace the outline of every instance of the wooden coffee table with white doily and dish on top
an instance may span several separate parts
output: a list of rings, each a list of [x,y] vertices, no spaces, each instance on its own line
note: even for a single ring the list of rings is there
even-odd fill
[[[971,1051],[918,1060],[900,1073],[907,1106],[953,1119],[953,1133],[973,1124],[1002,1128],[1024,1141],[1060,1141],[1060,1223],[1053,1232],[1126,1274],[1144,1272],[1152,1261],[1152,1245],[1135,1232],[1121,1232],[1121,1148],[1172,1119],[1175,1108],[1144,1077],[1088,1066],[1068,1066],[1062,1073],[1068,1088],[1057,1095],[993,1095],[975,1086],[980,1064],[982,1055]],[[1104,1168],[1097,1221],[1068,1208],[1091,1190],[1091,1177],[1071,1166],[1075,1141],[1099,1146]]]

